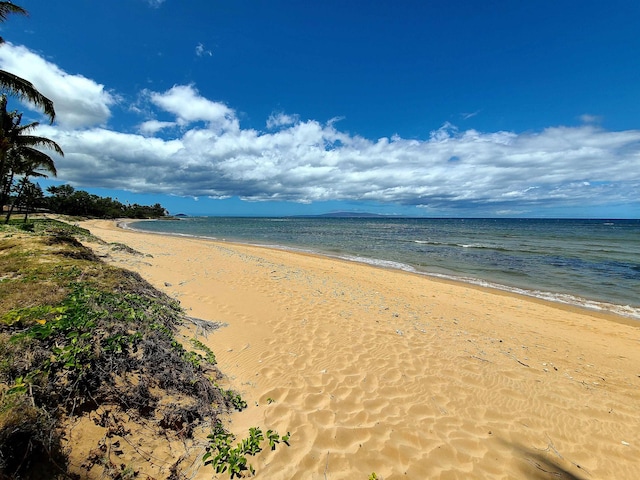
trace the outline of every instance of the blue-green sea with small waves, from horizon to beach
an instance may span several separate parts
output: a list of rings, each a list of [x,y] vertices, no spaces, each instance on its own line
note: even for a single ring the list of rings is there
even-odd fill
[[[640,220],[194,217],[131,227],[315,252],[640,319]]]

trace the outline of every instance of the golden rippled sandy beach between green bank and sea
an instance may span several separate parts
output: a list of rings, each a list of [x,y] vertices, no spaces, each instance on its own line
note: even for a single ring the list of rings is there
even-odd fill
[[[637,322],[337,259],[81,226],[143,254],[105,261],[226,324],[198,338],[249,404],[229,429],[291,432],[290,447],[251,460],[257,479],[640,475]]]

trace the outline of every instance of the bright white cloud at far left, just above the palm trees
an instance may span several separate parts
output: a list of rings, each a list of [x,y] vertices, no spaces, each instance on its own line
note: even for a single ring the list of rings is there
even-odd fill
[[[56,108],[56,122],[66,128],[103,125],[117,98],[82,75],[69,74],[23,46],[0,46],[0,68],[28,79]]]

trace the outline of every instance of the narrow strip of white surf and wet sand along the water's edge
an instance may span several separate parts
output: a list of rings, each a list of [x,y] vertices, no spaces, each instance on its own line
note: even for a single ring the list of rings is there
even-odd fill
[[[489,280],[483,280],[480,278],[473,277],[465,277],[461,275],[449,275],[449,274],[440,274],[435,272],[428,271],[419,271],[407,264],[400,264],[397,262],[386,261],[386,260],[376,260],[370,259],[371,261],[367,261],[369,259],[359,258],[352,255],[336,255],[328,252],[315,251],[304,248],[296,248],[289,247],[283,245],[271,245],[271,244],[261,244],[261,243],[251,243],[251,242],[243,242],[239,240],[227,240],[220,239],[216,237],[207,237],[201,235],[192,235],[185,233],[174,233],[174,232],[155,232],[142,230],[131,227],[131,223],[139,222],[139,221],[158,221],[158,220],[116,220],[116,225],[119,228],[124,230],[129,230],[132,232],[138,233],[146,233],[152,235],[166,235],[173,236],[178,238],[193,238],[199,239],[203,241],[211,241],[211,242],[219,242],[226,245],[246,245],[249,247],[256,248],[264,248],[267,250],[280,250],[285,252],[291,252],[293,254],[300,255],[311,255],[319,258],[327,258],[330,260],[336,261],[344,261],[344,262],[352,262],[360,265],[369,266],[371,268],[380,268],[384,270],[394,270],[405,272],[412,275],[424,276],[433,281],[442,281],[442,282],[452,282],[454,284],[462,284],[465,286],[486,289],[493,293],[502,293],[506,295],[514,295],[516,297],[525,297],[531,299],[536,302],[543,302],[546,304],[550,304],[552,306],[556,306],[558,308],[567,308],[569,310],[577,310],[577,311],[586,311],[588,313],[602,315],[603,318],[606,318],[610,321],[619,322],[631,326],[640,327],[640,308],[631,307],[629,305],[622,304],[614,304],[610,302],[597,301],[592,300],[586,297],[580,297],[573,294],[568,293],[556,293],[556,292],[547,292],[543,290],[535,290],[533,288],[521,288],[510,285],[503,285],[495,282],[491,282]],[[405,267],[405,268],[403,268]],[[631,310],[631,311],[629,311]]]

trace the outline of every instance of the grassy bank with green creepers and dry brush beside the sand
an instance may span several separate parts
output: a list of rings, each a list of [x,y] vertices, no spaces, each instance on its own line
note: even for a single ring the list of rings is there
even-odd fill
[[[0,477],[68,478],[72,419],[89,416],[105,429],[73,474],[97,468],[125,478],[136,470],[118,468],[109,455],[121,449],[105,443],[126,439],[124,418],[190,438],[197,425],[246,407],[215,385],[213,352],[181,345],[185,317],[175,300],[102,262],[78,240],[86,230],[33,225],[0,228]]]

